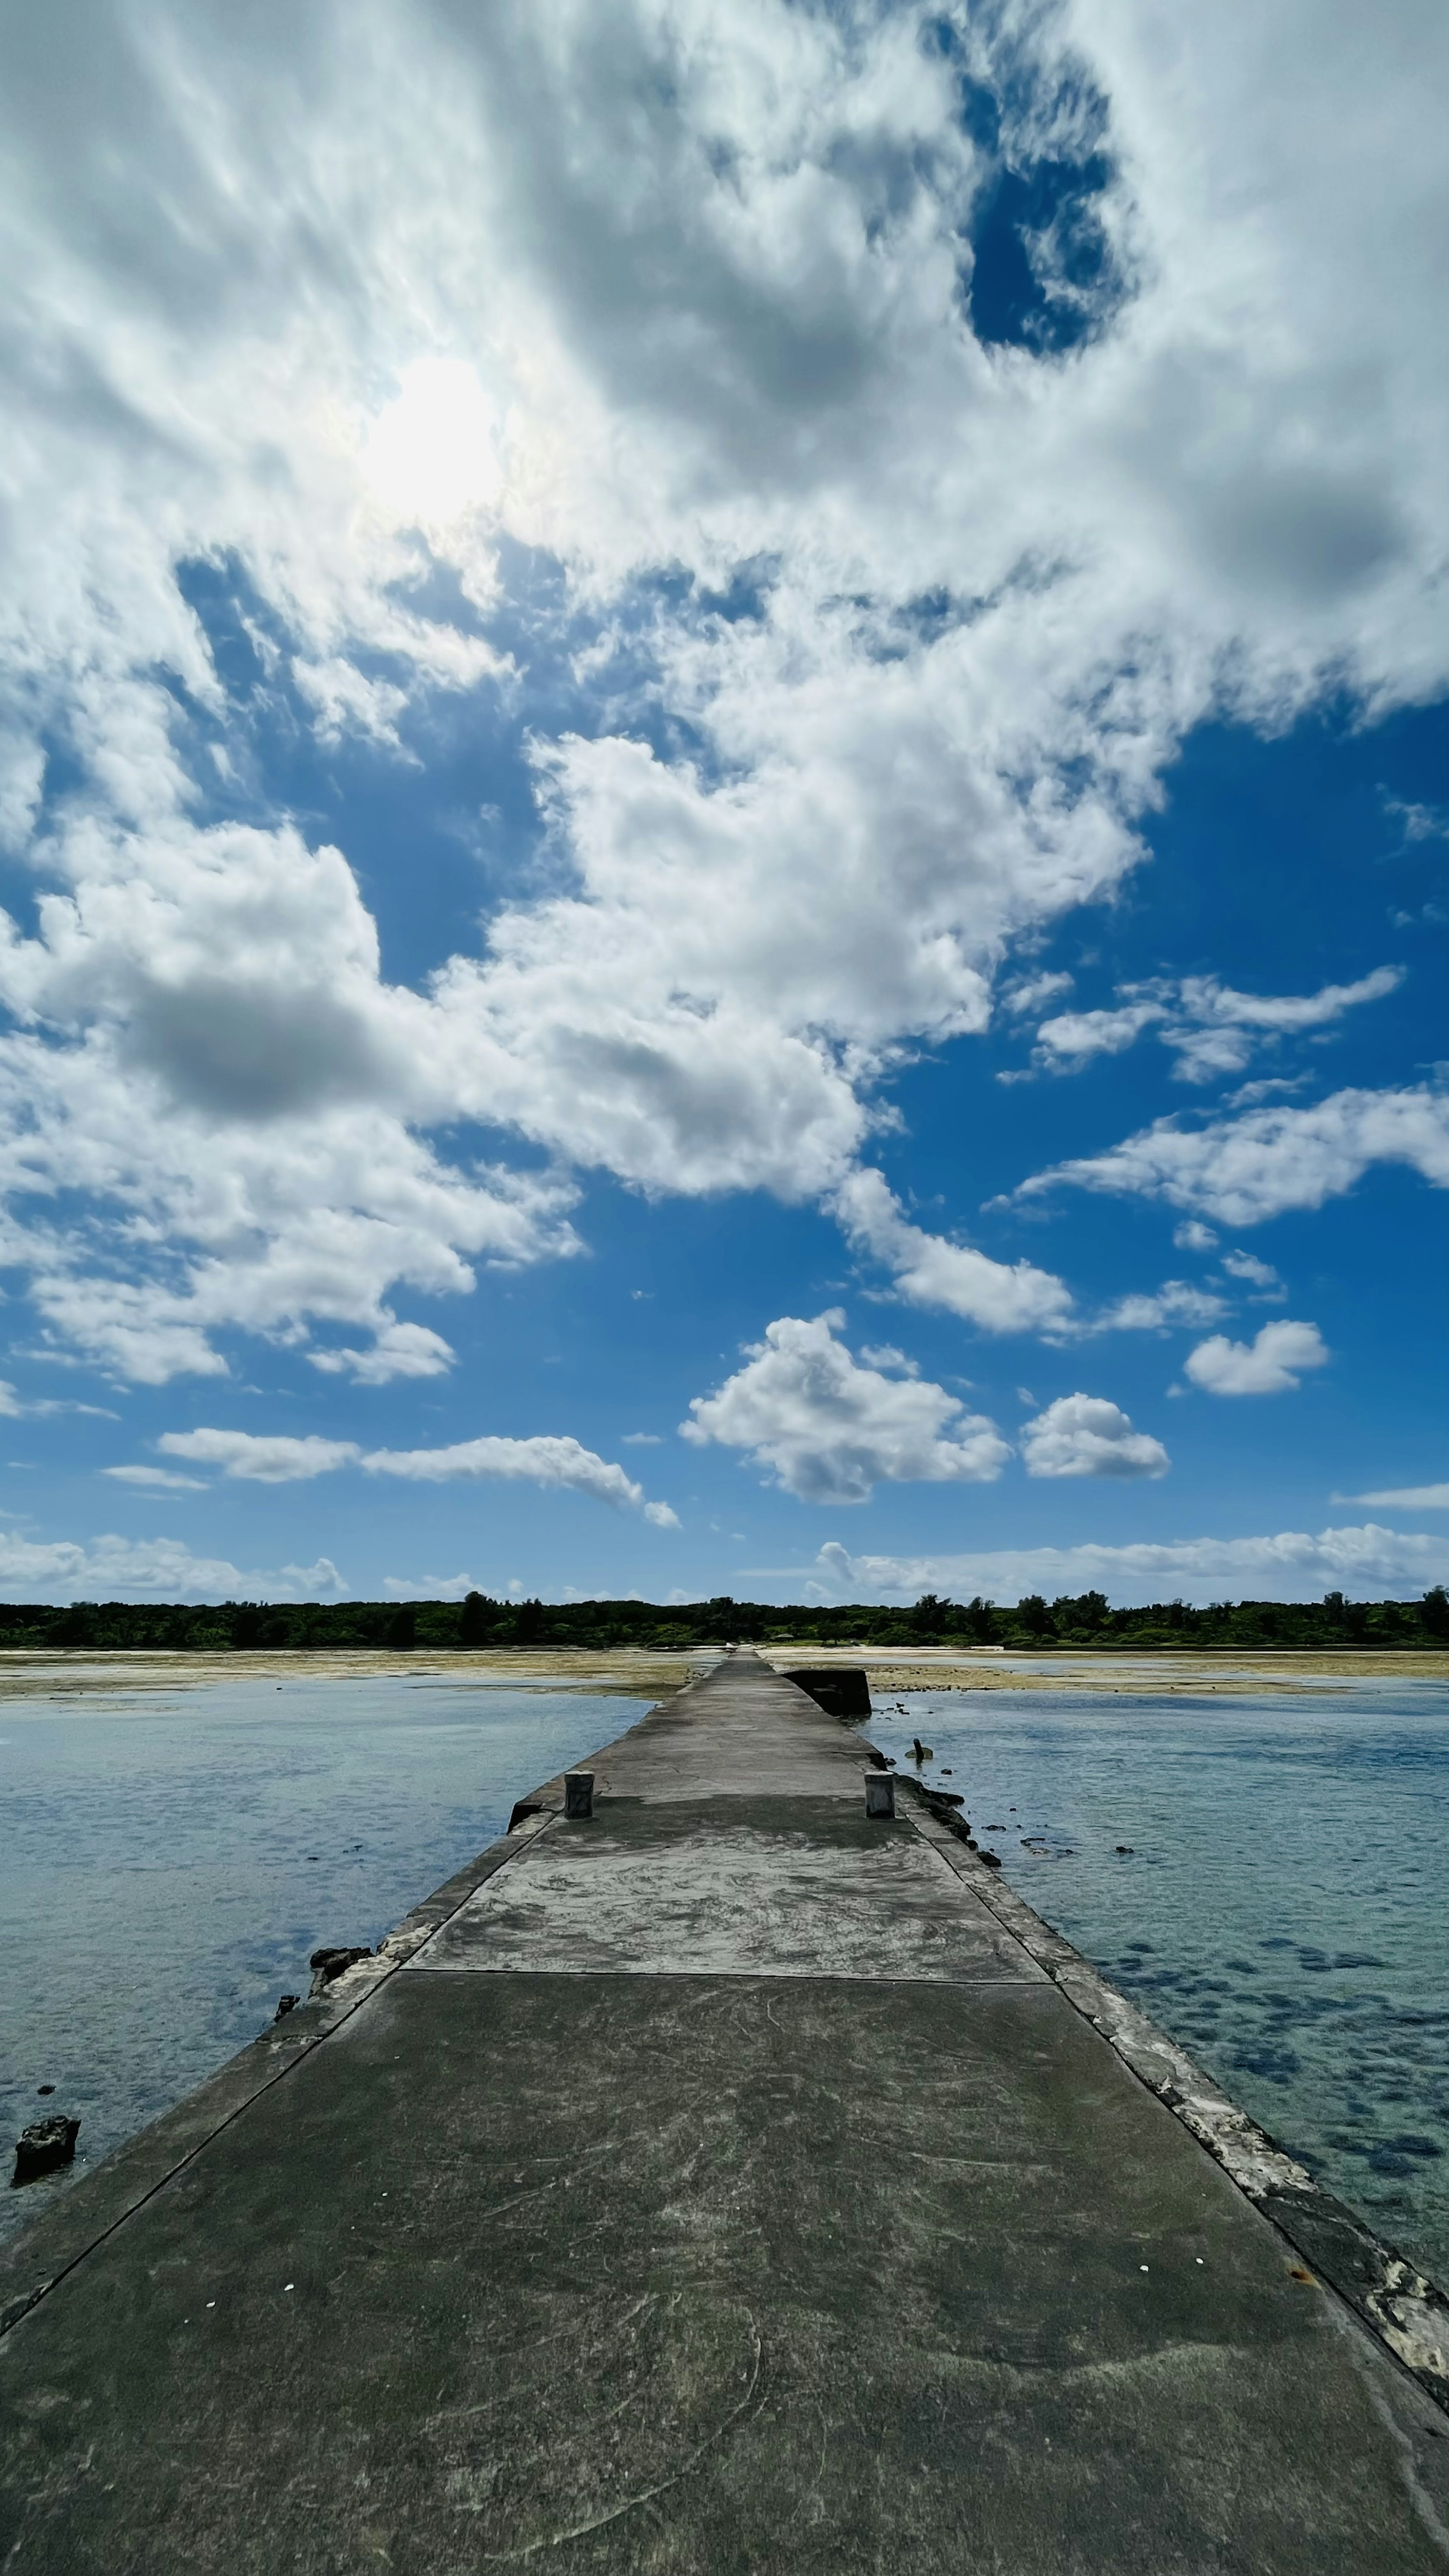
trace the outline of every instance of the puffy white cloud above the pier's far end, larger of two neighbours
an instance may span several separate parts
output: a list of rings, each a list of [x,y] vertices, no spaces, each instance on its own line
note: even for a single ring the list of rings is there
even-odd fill
[[[799,1502],[869,1502],[877,1484],[990,1484],[1011,1445],[928,1378],[861,1368],[838,1309],[779,1316],[745,1368],[696,1396],[681,1435],[748,1450]]]

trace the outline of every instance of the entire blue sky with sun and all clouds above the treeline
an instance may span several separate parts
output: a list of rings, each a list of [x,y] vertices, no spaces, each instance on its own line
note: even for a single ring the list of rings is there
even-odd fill
[[[8,39],[3,1597],[1449,1574],[1413,18]]]

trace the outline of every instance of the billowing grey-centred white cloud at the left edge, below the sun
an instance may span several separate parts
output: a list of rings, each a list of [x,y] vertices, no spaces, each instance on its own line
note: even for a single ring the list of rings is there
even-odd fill
[[[562,1177],[459,1170],[415,1133],[456,1105],[438,1005],[382,981],[335,850],[173,822],[77,827],[52,863],[70,891],[0,938],[0,1180],[13,1211],[90,1198],[70,1224],[10,1216],[57,1347],[165,1383],[224,1376],[227,1329],[320,1334],[320,1368],[433,1376],[449,1345],[394,1316],[397,1288],[459,1296],[477,1260],[580,1249]],[[358,1324],[369,1342],[330,1340]]]

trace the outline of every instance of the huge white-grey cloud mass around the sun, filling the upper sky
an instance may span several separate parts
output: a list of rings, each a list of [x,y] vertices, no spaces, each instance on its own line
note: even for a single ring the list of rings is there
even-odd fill
[[[985,1025],[1011,943],[1134,863],[1189,724],[1439,685],[1441,44],[1415,0],[21,13],[13,845],[46,742],[75,786],[0,1113],[54,1345],[446,1365],[400,1296],[572,1249],[567,1185],[474,1170],[469,1121],[645,1190],[833,1193],[900,1046]],[[1080,152],[1101,93],[1127,294],[1070,363],[967,327],[962,64],[1008,152]],[[178,567],[240,567],[268,685],[397,757],[436,690],[511,685],[500,536],[562,562],[601,721],[539,739],[552,866],[405,992],[345,855],[193,819],[242,811],[250,744]],[[433,564],[467,616],[418,605]],[[657,567],[683,605],[642,605]],[[714,616],[740,567],[758,613]],[[897,1249],[993,1329],[1062,1293]]]

